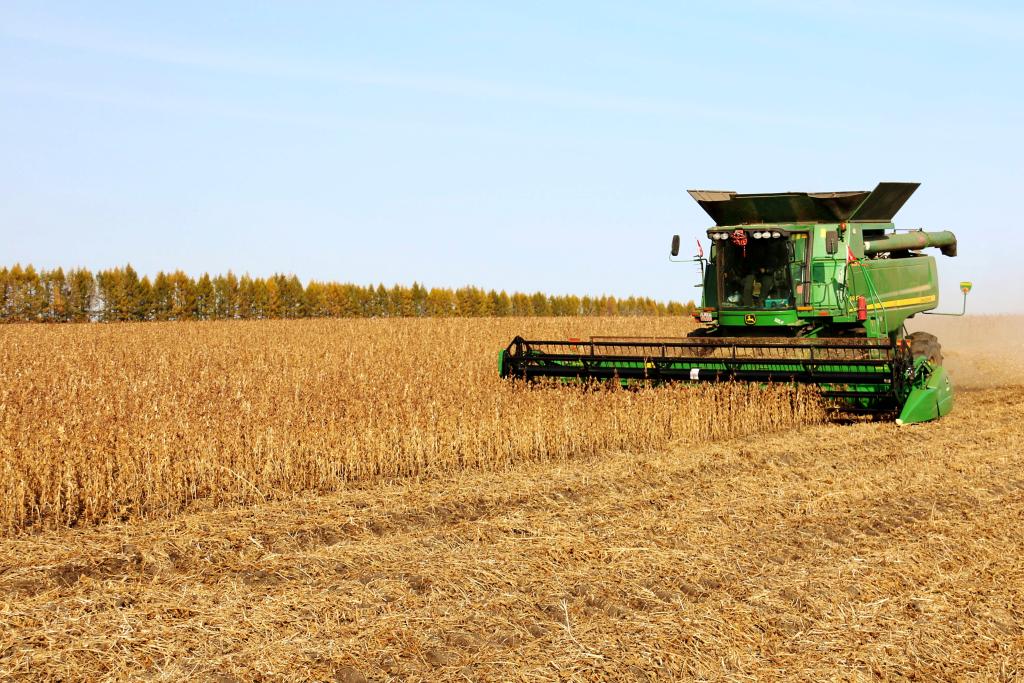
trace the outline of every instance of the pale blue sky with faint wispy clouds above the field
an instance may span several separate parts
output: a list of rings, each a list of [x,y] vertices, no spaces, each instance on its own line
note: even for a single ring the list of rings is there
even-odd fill
[[[1022,112],[1020,3],[6,0],[0,260],[685,300],[687,188],[915,180],[1024,312]]]

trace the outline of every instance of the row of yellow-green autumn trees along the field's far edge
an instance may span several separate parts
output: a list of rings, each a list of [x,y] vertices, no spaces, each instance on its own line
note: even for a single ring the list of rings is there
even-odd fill
[[[294,274],[199,279],[175,270],[150,280],[131,267],[93,274],[86,268],[0,269],[0,321],[86,323],[297,317],[406,317],[484,315],[684,315],[693,302],[647,297],[508,294],[476,287],[360,286],[310,282]]]

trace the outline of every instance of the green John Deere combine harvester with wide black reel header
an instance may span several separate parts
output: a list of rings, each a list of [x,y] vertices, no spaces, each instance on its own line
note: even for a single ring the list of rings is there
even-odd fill
[[[952,232],[893,226],[919,184],[817,194],[690,190],[715,221],[708,258],[693,259],[702,275],[699,329],[675,339],[516,337],[500,354],[501,375],[626,385],[798,382],[817,385],[844,412],[896,415],[897,424],[946,415],[952,384],[938,339],[903,327],[939,302],[935,258],[921,250],[956,255]],[[966,304],[971,284],[961,289]]]

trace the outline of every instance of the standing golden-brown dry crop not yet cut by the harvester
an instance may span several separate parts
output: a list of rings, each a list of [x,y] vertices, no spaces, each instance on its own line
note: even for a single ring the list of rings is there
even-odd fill
[[[679,318],[5,327],[0,528],[249,503],[381,479],[820,420],[812,393],[497,377],[516,333],[680,335]]]

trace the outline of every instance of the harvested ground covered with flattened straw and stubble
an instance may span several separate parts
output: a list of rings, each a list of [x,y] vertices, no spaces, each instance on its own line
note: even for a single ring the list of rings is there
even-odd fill
[[[930,424],[0,540],[0,679],[1021,680],[1024,354],[1000,321],[938,332],[965,388]]]

